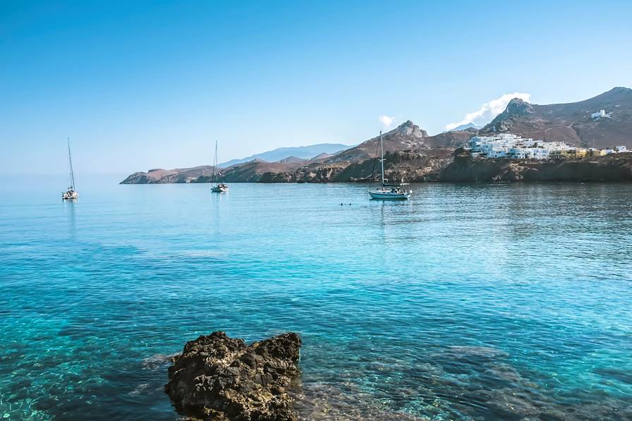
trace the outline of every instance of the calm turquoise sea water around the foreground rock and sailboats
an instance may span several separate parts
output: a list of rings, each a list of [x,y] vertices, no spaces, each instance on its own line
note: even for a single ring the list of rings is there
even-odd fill
[[[299,332],[305,419],[632,417],[630,184],[117,181],[2,183],[0,417],[174,420],[215,330]]]

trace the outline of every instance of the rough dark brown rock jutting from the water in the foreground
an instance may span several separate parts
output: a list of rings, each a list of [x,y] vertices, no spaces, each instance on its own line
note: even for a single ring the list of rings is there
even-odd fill
[[[186,343],[164,391],[179,413],[203,420],[293,421],[287,389],[299,352],[298,334],[246,345],[217,331]]]

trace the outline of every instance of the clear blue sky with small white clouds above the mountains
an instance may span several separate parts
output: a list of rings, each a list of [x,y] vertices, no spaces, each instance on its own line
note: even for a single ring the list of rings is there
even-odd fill
[[[183,168],[632,87],[632,1],[0,0],[0,174]]]

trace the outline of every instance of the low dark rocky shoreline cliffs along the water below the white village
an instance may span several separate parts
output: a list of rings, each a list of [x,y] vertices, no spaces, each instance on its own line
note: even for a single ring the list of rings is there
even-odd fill
[[[632,181],[632,153],[581,159],[488,159],[472,157],[467,150],[443,148],[424,152],[393,151],[384,155],[384,171],[391,181],[412,183],[487,182],[617,182]],[[351,164],[313,164],[291,171],[236,173],[226,183],[367,183],[379,181],[374,159]],[[373,174],[373,178],[371,175]],[[190,180],[174,177],[152,181],[146,175],[128,178],[125,184],[208,183],[207,176]]]

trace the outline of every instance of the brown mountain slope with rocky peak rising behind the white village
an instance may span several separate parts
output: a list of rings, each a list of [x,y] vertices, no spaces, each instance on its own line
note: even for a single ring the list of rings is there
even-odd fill
[[[604,110],[609,117],[593,118]],[[514,133],[584,147],[632,147],[632,90],[615,87],[580,102],[537,105],[511,99],[480,133]]]

